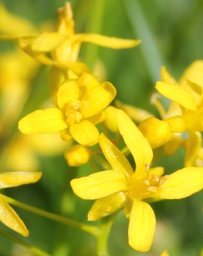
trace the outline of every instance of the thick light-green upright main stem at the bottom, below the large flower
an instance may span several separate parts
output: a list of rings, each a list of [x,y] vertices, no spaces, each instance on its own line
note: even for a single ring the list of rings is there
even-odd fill
[[[99,223],[100,235],[97,237],[97,256],[109,256],[108,238],[113,224],[114,215],[101,218]]]

